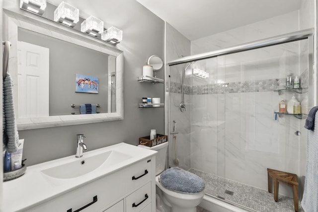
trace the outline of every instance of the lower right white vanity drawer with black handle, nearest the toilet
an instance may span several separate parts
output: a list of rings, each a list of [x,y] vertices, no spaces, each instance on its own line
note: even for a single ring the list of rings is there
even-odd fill
[[[140,212],[151,203],[151,197],[151,182],[148,182],[126,198],[126,212]]]

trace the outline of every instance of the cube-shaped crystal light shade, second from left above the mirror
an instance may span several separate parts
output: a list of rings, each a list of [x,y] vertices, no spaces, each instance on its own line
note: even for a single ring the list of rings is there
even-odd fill
[[[79,9],[62,1],[54,11],[54,21],[75,27],[79,22]]]

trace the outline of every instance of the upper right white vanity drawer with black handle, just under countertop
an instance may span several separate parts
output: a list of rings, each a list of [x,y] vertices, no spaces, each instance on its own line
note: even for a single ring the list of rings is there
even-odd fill
[[[136,190],[151,180],[151,164],[151,158],[148,158],[125,169],[127,193]]]

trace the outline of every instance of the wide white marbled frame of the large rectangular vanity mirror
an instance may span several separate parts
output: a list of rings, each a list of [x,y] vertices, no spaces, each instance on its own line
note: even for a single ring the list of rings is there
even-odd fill
[[[30,130],[49,127],[109,122],[124,119],[124,56],[123,51],[110,44],[94,39],[90,35],[66,27],[41,16],[23,10],[10,11],[3,9],[3,39],[12,43],[9,55],[8,71],[13,80],[13,96],[15,116],[17,114],[17,33],[18,27],[77,44],[116,57],[116,112],[85,115],[63,115],[49,117],[16,118],[18,130]],[[107,98],[107,97],[105,97]],[[71,106],[70,106],[71,108]]]

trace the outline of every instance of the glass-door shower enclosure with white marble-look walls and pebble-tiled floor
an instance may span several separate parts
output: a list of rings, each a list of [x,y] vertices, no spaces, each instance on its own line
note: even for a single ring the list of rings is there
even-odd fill
[[[308,109],[280,114],[278,105],[295,95],[313,106],[313,42],[308,29],[168,62],[169,166],[201,176],[208,196],[251,211],[294,211],[289,187],[280,185],[277,203],[267,192],[267,168],[302,184]],[[301,78],[300,89],[286,89],[288,74]]]

